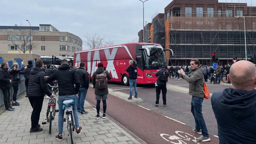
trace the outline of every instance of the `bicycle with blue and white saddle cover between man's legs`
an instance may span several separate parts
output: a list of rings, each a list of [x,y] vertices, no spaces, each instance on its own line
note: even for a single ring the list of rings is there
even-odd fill
[[[72,110],[72,104],[74,103],[73,99],[70,100],[65,100],[63,101],[63,106],[62,109],[65,109],[66,113],[66,118],[63,119],[63,121],[66,121],[66,126],[68,130],[68,136],[70,135],[71,138],[71,144],[74,142],[74,136],[73,136],[73,131],[75,131],[75,121],[74,121],[74,115],[73,115],[73,110]]]

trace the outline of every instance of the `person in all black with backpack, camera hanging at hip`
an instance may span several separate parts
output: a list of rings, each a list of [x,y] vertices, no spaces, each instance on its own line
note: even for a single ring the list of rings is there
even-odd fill
[[[155,106],[159,106],[159,98],[162,90],[163,97],[163,106],[166,106],[166,82],[168,80],[168,72],[165,69],[165,66],[161,67],[161,70],[156,73],[157,78],[157,86],[156,86],[156,104]]]

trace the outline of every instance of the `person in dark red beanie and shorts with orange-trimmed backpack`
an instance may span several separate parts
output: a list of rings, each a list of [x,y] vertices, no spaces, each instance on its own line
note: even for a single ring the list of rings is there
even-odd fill
[[[107,109],[107,103],[106,99],[108,98],[108,87],[106,84],[106,88],[99,89],[96,84],[97,74],[106,74],[106,77],[108,80],[111,79],[111,76],[107,70],[103,69],[104,65],[103,63],[98,63],[97,70],[92,74],[92,84],[94,88],[95,93],[95,99],[97,100],[96,109],[97,109],[97,115],[95,116],[96,119],[100,119],[100,101],[102,100],[103,103],[103,115],[102,118],[106,118],[106,109]]]

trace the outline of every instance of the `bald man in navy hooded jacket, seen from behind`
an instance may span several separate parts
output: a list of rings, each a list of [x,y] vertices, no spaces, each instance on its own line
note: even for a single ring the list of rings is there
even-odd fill
[[[256,144],[256,68],[238,61],[227,77],[232,88],[211,97],[220,144]]]

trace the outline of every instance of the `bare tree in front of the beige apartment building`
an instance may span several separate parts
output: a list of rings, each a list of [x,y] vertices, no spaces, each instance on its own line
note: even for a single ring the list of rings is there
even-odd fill
[[[7,31],[8,40],[12,42],[14,47],[20,49],[23,53],[27,50],[35,50],[37,48],[37,43],[33,41],[33,31],[30,33],[30,29],[28,26],[20,26],[18,31]],[[31,46],[30,37],[31,36]],[[20,46],[21,45],[21,46]]]

